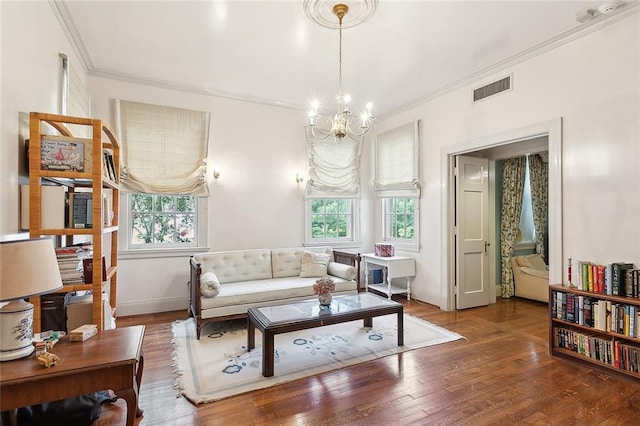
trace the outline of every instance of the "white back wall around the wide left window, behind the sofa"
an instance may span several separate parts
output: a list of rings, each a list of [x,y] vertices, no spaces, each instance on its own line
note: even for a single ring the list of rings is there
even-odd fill
[[[208,244],[211,250],[294,247],[304,240],[304,111],[89,77],[93,114],[115,123],[113,99],[211,112]],[[186,308],[192,252],[119,258],[120,315]]]

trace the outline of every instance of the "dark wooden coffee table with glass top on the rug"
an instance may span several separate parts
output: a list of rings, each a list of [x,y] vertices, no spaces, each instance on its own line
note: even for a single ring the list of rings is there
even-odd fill
[[[273,376],[274,337],[276,334],[307,330],[325,325],[364,320],[365,327],[373,318],[398,315],[398,346],[404,344],[403,307],[400,303],[371,293],[335,296],[330,309],[320,309],[317,299],[285,305],[249,308],[247,311],[247,350],[255,348],[255,330],[262,333],[262,375]]]

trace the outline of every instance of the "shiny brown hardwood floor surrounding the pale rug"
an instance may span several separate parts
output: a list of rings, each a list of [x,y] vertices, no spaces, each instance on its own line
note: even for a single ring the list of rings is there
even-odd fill
[[[466,337],[195,406],[173,388],[171,323],[184,312],[121,317],[145,324],[140,425],[631,425],[640,381],[551,357],[547,306],[523,299],[457,312],[395,300]],[[96,425],[125,424],[122,401]]]

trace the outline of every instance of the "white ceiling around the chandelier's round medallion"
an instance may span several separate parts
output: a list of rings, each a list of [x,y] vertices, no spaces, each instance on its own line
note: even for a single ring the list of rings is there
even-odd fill
[[[638,6],[576,20],[601,3],[379,0],[368,21],[343,30],[345,93],[354,112],[371,101],[375,115],[388,114]],[[303,0],[52,4],[91,75],[300,109],[316,97],[335,108],[338,30],[310,21]]]

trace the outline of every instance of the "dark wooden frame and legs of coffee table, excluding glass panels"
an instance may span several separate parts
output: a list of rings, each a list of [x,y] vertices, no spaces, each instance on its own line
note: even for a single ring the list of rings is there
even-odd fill
[[[271,377],[274,374],[274,338],[276,334],[289,333],[291,331],[307,330],[310,328],[323,327],[325,325],[340,324],[349,321],[364,320],[365,327],[373,326],[373,318],[382,315],[398,315],[398,346],[404,345],[404,317],[403,306],[394,301],[388,301],[371,293],[358,293],[353,296],[334,297],[334,302],[341,297],[375,297],[385,303],[379,306],[365,308],[354,308],[346,312],[321,313],[312,317],[300,317],[287,321],[271,321],[261,311],[260,308],[249,308],[247,311],[247,350],[255,348],[255,329],[262,333],[262,375]],[[304,302],[301,302],[304,303]],[[295,306],[295,303],[290,304]],[[287,306],[287,305],[281,305]]]

